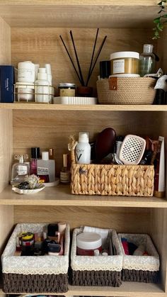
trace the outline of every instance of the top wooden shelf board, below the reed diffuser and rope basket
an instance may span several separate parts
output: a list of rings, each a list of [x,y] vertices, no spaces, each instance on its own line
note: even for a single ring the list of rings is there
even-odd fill
[[[0,109],[33,111],[167,111],[167,105],[73,105],[45,103],[0,103]]]

